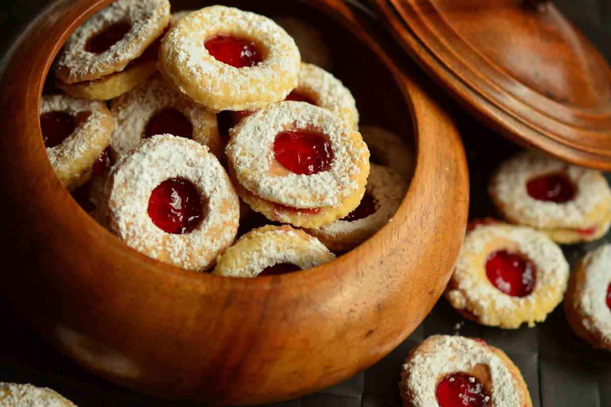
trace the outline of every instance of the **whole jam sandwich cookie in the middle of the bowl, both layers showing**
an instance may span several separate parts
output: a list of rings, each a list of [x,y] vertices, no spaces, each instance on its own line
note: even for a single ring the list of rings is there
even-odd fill
[[[359,206],[369,151],[329,110],[271,104],[230,130],[225,148],[241,198],[269,220],[316,228]]]

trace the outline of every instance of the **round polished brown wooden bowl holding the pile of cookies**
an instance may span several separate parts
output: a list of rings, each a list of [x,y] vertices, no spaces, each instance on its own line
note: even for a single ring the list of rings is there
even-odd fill
[[[110,2],[55,2],[7,56],[0,185],[4,258],[15,262],[1,286],[15,310],[92,372],[168,398],[273,402],[337,384],[387,355],[442,294],[463,240],[468,176],[452,121],[367,34],[359,11],[334,0],[291,4],[285,13],[316,16],[310,21],[332,33],[337,73],[364,121],[413,133],[409,192],[370,240],[307,272],[234,279],[161,264],[82,211],[54,176],[40,132],[54,57]],[[279,12],[280,2],[258,3],[232,4]]]

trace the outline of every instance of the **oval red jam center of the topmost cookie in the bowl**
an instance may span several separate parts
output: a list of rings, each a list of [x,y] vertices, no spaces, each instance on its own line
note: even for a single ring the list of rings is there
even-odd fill
[[[204,46],[211,56],[236,68],[254,67],[263,60],[254,42],[232,35],[217,35],[206,40]]]

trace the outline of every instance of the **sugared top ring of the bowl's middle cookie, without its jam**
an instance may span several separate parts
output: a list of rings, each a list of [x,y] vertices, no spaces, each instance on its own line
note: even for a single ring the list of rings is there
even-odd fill
[[[328,137],[334,154],[329,170],[299,175],[276,161],[276,135],[296,129]],[[225,153],[236,178],[265,200],[296,208],[338,206],[367,182],[369,151],[359,132],[321,107],[293,101],[270,104],[241,120],[230,135]]]

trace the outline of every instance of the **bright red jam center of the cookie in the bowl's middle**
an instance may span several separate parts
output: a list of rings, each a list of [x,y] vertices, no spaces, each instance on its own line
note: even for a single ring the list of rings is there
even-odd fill
[[[283,131],[274,141],[277,162],[296,174],[312,175],[331,167],[333,150],[320,133]]]

